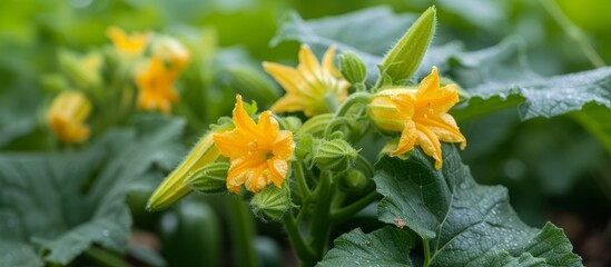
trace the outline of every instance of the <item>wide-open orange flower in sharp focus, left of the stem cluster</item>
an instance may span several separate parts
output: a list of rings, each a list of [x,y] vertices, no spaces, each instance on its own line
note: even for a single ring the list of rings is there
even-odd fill
[[[258,123],[246,113],[242,96],[236,97],[231,131],[215,134],[216,147],[231,166],[227,174],[227,189],[238,194],[242,185],[252,192],[258,192],[274,182],[282,187],[288,174],[289,158],[295,150],[293,134],[279,130],[278,121],[270,111],[259,116]]]

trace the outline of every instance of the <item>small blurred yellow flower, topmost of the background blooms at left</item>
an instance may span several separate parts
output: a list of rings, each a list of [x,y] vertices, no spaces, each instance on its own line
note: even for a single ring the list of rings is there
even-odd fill
[[[106,34],[108,36],[108,38],[110,38],[110,40],[112,40],[112,43],[115,43],[115,48],[117,49],[117,51],[128,57],[136,57],[141,55],[148,46],[148,41],[150,39],[149,32],[135,32],[131,33],[131,36],[128,36],[122,29],[118,27],[108,28],[106,30]]]

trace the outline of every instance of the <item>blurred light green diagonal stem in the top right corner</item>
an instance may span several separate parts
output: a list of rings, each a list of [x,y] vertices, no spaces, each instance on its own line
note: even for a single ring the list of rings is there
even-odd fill
[[[568,17],[562,12],[560,7],[552,0],[540,0],[541,6],[550,13],[550,16],[555,20],[555,22],[562,28],[564,33],[569,36],[573,41],[578,43],[585,57],[595,68],[602,68],[607,66],[604,60],[597,53],[597,50],[588,42],[588,37],[585,33],[575,26]]]

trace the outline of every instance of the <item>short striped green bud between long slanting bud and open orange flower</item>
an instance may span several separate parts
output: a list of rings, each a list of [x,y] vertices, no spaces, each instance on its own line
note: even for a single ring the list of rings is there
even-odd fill
[[[214,162],[194,171],[186,184],[200,192],[221,192],[227,190],[228,162]]]

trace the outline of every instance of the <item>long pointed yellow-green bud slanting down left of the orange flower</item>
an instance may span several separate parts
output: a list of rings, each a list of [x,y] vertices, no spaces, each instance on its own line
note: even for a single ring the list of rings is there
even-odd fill
[[[216,162],[221,157],[215,146],[213,134],[229,130],[231,127],[231,125],[220,126],[214,131],[208,131],[204,135],[187,157],[183,159],[183,162],[152,192],[152,196],[148,199],[147,210],[165,209],[191,192],[191,188],[185,182],[190,175],[205,166]]]

